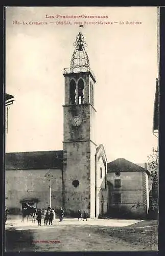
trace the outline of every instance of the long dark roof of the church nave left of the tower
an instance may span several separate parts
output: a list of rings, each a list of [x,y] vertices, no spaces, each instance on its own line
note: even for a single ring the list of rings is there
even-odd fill
[[[33,151],[6,153],[5,169],[62,168],[63,151]]]

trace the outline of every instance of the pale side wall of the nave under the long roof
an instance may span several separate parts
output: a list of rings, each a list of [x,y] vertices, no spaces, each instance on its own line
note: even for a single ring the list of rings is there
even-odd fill
[[[6,171],[6,204],[9,210],[19,211],[20,201],[37,199],[37,208],[50,204],[49,169],[7,170]],[[52,170],[52,207],[62,206],[62,170]]]

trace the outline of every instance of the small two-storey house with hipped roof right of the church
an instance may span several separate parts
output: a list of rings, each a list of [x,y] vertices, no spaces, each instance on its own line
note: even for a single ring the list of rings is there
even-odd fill
[[[107,164],[108,215],[144,218],[149,209],[147,169],[124,158]]]

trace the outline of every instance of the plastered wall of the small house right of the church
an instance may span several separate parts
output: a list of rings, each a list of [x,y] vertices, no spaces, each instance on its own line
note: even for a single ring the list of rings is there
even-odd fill
[[[134,217],[144,217],[147,214],[147,180],[145,172],[121,172],[120,177],[115,173],[107,174],[109,182],[109,214],[120,213]],[[114,180],[121,179],[121,187],[114,187]],[[115,194],[121,194],[121,203],[114,201]],[[144,200],[145,196],[145,200]]]

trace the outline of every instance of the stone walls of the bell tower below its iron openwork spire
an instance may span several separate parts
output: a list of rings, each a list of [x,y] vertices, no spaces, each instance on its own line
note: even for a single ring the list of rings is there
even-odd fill
[[[64,207],[68,214],[85,210],[88,217],[95,217],[95,109],[90,102],[89,72],[65,74],[64,107]],[[84,82],[84,104],[78,104],[78,81]],[[76,83],[76,104],[69,105],[69,83]],[[73,125],[73,117],[80,116],[82,123]],[[94,142],[94,143],[93,143]],[[79,183],[76,187],[73,182]]]

